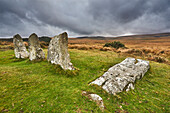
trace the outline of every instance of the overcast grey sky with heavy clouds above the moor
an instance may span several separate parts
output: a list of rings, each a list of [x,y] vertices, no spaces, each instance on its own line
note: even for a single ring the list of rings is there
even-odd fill
[[[0,37],[170,32],[170,0],[0,0]]]

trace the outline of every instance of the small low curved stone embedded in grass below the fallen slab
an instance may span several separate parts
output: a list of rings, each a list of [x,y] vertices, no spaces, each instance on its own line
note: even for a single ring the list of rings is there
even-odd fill
[[[97,94],[90,94],[90,93],[88,93],[86,91],[83,91],[82,95],[88,97],[91,101],[96,102],[97,105],[100,107],[100,109],[102,111],[104,111],[105,106],[104,106],[104,103],[103,103],[103,99],[99,95],[97,95]]]

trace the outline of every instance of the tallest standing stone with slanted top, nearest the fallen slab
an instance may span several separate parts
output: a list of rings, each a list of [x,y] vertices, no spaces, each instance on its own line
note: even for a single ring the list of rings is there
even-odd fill
[[[64,70],[74,70],[68,53],[68,36],[66,32],[51,39],[48,46],[47,60],[52,64],[59,64]]]

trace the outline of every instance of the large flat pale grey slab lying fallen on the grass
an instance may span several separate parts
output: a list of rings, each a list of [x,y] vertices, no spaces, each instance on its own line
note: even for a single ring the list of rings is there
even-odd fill
[[[134,82],[141,79],[149,68],[148,61],[126,58],[90,84],[101,86],[110,94],[119,93],[123,90],[129,91],[134,89]]]

